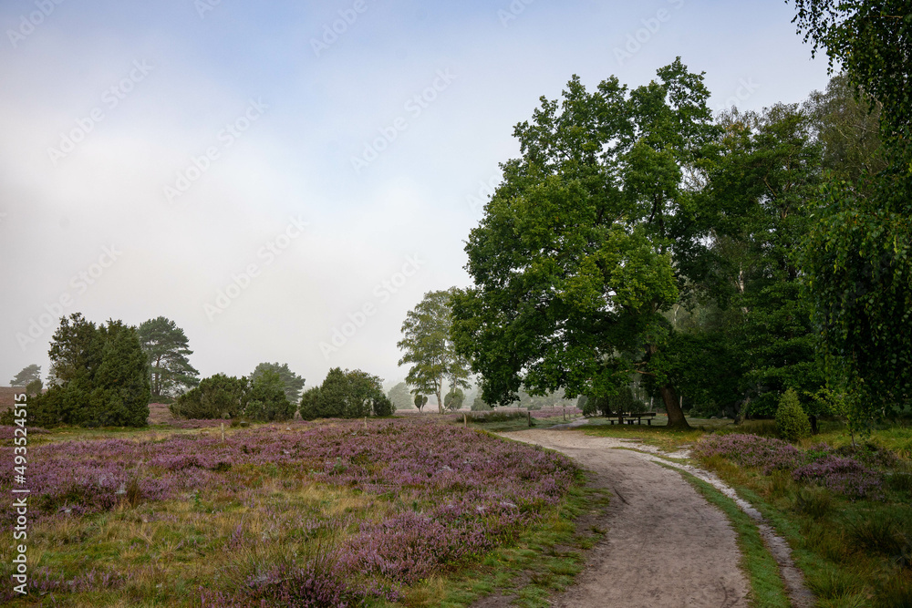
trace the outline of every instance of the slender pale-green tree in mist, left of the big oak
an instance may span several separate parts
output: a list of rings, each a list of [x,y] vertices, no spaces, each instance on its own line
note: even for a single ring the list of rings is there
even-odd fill
[[[399,365],[413,364],[406,382],[421,393],[435,395],[441,413],[444,381],[452,387],[470,386],[469,362],[456,353],[450,337],[452,293],[453,290],[424,294],[421,302],[406,315],[402,324],[405,337],[398,344],[405,351]]]

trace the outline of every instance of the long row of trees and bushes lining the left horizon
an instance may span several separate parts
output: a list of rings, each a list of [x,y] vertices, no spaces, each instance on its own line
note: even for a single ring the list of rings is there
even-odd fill
[[[27,421],[35,427],[144,427],[149,403],[169,401],[184,418],[235,418],[255,422],[317,417],[390,416],[395,407],[377,376],[361,370],[329,371],[303,395],[305,378],[288,364],[261,363],[250,376],[199,378],[188,360],[183,330],[164,317],[139,327],[110,320],[96,325],[82,314],[60,319],[42,391],[40,367],[26,366],[11,381],[26,385]],[[11,422],[12,410],[0,417]],[[10,418],[10,419],[7,419]]]

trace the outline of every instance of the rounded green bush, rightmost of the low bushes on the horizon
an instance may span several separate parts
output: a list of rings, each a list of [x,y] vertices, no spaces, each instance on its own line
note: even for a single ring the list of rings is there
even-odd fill
[[[305,392],[300,408],[305,420],[390,416],[394,410],[383,394],[380,378],[359,369],[342,371],[339,367],[329,370],[318,389]]]

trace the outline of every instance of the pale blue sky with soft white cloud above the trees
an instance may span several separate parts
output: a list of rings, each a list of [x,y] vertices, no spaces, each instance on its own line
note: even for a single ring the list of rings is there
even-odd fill
[[[59,317],[165,316],[202,376],[386,380],[542,96],[681,57],[717,110],[828,80],[782,0],[4,0],[0,384]]]

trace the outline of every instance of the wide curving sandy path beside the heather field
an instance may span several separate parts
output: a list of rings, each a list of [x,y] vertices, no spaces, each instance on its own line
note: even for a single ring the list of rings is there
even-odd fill
[[[586,570],[555,606],[680,608],[747,606],[748,582],[738,568],[736,534],[679,473],[643,459],[617,438],[560,430],[503,437],[564,452],[596,473],[611,504]]]

